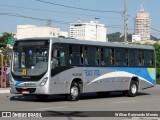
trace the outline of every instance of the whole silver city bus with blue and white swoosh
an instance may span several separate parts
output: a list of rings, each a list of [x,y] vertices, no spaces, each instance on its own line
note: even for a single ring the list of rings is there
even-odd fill
[[[138,90],[155,86],[155,49],[152,46],[33,38],[13,46],[11,93],[32,94],[38,99],[80,94],[107,95],[122,91],[134,97]]]

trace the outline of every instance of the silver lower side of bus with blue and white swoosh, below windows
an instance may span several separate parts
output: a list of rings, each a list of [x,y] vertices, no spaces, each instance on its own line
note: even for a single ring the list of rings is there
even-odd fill
[[[68,94],[74,79],[83,83],[83,93],[100,91],[129,90],[133,77],[139,80],[139,89],[155,84],[154,68],[122,68],[122,67],[72,67],[51,78],[51,94]]]

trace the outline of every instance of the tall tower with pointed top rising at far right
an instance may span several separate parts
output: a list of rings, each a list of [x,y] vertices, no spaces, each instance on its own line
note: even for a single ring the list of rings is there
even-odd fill
[[[141,36],[141,41],[149,41],[151,33],[151,20],[149,13],[144,12],[144,9],[141,7],[140,11],[135,17],[134,23],[134,34]]]

